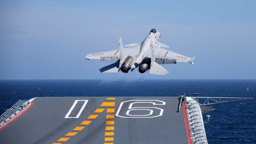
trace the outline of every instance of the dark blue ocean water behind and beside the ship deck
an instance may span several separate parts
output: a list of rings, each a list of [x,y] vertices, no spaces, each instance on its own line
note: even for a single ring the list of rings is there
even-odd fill
[[[256,80],[0,80],[0,114],[20,99],[44,96],[256,95]],[[178,105],[178,103],[177,103]],[[256,144],[256,100],[211,105],[204,113],[209,144]],[[211,115],[206,122],[206,115]]]

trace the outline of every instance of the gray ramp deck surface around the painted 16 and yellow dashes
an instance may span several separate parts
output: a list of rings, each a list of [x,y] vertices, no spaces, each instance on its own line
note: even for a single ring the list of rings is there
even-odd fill
[[[108,97],[38,97],[33,100],[34,105],[15,121],[0,130],[1,144],[187,144],[183,107],[177,113],[178,97],[115,97],[115,100],[106,100]],[[64,118],[75,100],[89,100],[79,118]],[[139,100],[129,101],[128,100]],[[145,100],[145,101],[140,101]],[[166,102],[165,105],[160,101]],[[115,106],[100,106],[103,102],[115,102]],[[125,102],[116,116],[121,102]],[[128,106],[133,103],[131,111]],[[143,103],[147,102],[147,103]],[[151,102],[151,103],[148,103]],[[153,103],[152,103],[153,102]],[[75,117],[84,102],[78,102],[70,113]],[[155,107],[155,108],[134,108]],[[95,113],[97,108],[105,109]],[[115,108],[115,113],[107,113],[108,108]],[[160,108],[160,109],[157,109]],[[138,110],[142,109],[142,110]],[[144,109],[144,110],[143,110]],[[145,110],[145,109],[151,109]],[[163,109],[162,116],[157,116]],[[128,112],[127,112],[128,111]],[[151,113],[150,113],[151,112]],[[95,119],[88,119],[91,114],[98,115]],[[106,119],[106,115],[115,115],[114,119]],[[139,116],[132,116],[139,115]],[[89,125],[81,125],[83,121],[92,121]],[[106,121],[114,121],[113,125],[106,125]],[[76,127],[84,127],[77,131]],[[105,130],[106,126],[114,130]],[[68,132],[77,132],[74,136],[65,136]],[[105,132],[114,132],[113,136],[105,136]],[[105,138],[113,137],[113,141]],[[69,138],[58,141],[60,138]]]

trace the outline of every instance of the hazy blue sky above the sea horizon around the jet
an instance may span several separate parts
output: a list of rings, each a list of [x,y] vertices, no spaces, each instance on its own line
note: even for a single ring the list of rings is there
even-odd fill
[[[0,1],[0,79],[256,79],[256,1]],[[161,32],[194,65],[100,73],[89,53]]]

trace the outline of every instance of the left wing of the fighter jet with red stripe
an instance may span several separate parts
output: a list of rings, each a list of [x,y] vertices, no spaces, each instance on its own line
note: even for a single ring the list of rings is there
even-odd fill
[[[119,49],[113,51],[99,52],[96,54],[87,54],[86,59],[98,59],[100,61],[116,62],[119,60]]]

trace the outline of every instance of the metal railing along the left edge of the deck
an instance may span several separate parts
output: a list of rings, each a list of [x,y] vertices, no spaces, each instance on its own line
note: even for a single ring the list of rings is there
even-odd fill
[[[31,102],[29,102],[28,100],[19,100],[12,106],[12,108],[7,109],[7,111],[0,116],[0,128],[3,127],[7,122],[14,119],[29,105],[31,105]]]

